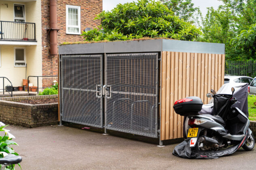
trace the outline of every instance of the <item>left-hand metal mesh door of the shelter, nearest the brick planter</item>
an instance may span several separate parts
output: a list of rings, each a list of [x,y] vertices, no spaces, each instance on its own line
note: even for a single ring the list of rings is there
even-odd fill
[[[62,56],[62,120],[103,127],[101,70],[102,55]]]

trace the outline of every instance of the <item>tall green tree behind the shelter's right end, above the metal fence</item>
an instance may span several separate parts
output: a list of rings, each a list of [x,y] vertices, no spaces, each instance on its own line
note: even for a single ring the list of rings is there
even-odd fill
[[[242,50],[241,46],[237,46],[235,42],[238,41],[231,41],[231,39],[237,35],[240,36],[241,30],[248,30],[252,23],[256,23],[256,0],[221,1],[224,5],[219,6],[217,10],[208,8],[207,15],[204,18],[201,17],[202,22],[199,25],[203,36],[199,40],[224,43],[227,59],[250,59],[252,54],[249,55],[248,52]]]

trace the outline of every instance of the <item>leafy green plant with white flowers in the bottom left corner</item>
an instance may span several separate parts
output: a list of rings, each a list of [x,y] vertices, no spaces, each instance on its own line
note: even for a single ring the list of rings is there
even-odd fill
[[[11,133],[9,133],[10,130],[4,129],[6,126],[4,123],[0,122],[0,131],[4,131],[4,136],[0,136],[0,158],[3,158],[4,156],[8,154],[14,154],[19,155],[16,153],[11,145],[18,145],[16,142],[12,141],[13,138],[15,138]],[[18,164],[20,167],[20,164]],[[6,166],[5,170],[15,170],[14,168],[15,164]],[[1,167],[1,166],[0,166]]]

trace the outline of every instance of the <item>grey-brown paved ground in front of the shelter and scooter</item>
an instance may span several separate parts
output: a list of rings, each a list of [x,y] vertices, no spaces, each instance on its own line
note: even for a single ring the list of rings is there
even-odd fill
[[[255,169],[256,148],[239,149],[230,156],[211,160],[188,160],[172,155],[177,144],[156,144],[102,135],[70,126],[22,128],[9,126],[23,157],[22,170],[172,170]],[[17,167],[19,170],[19,167]]]

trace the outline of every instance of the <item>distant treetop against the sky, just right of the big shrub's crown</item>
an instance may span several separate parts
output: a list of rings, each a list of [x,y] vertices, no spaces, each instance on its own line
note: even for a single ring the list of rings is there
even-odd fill
[[[191,21],[199,8],[194,8],[192,0],[160,0],[169,9],[174,12],[174,15],[179,16],[184,21]]]

